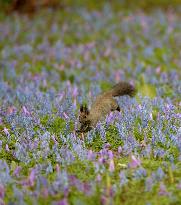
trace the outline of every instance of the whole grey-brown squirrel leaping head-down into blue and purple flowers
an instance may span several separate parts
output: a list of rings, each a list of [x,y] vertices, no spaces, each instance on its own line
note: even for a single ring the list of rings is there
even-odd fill
[[[111,90],[101,93],[96,97],[90,111],[86,105],[80,106],[79,122],[80,129],[76,132],[85,133],[90,131],[96,124],[103,120],[112,111],[120,111],[120,107],[113,97],[129,95],[134,96],[136,89],[127,82],[119,82]]]

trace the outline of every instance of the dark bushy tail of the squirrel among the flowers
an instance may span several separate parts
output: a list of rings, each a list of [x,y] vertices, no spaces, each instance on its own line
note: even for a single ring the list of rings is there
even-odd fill
[[[127,82],[119,82],[115,86],[112,87],[112,89],[109,91],[109,93],[113,96],[121,96],[121,95],[129,95],[134,96],[136,93],[136,89],[133,85]]]

